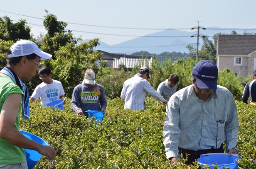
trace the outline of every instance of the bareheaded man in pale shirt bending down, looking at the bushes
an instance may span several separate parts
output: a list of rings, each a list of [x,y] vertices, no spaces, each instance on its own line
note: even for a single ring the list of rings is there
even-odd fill
[[[164,97],[165,100],[168,101],[172,96],[172,94],[176,92],[177,83],[179,82],[179,80],[180,80],[179,76],[172,74],[167,80],[160,83],[156,91],[159,94],[161,94],[161,96]]]

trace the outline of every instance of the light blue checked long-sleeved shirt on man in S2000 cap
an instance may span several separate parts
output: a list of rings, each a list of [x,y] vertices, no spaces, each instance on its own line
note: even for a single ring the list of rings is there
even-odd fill
[[[224,123],[218,123],[222,120]],[[239,123],[234,97],[217,85],[204,102],[193,85],[172,95],[167,103],[163,128],[167,159],[177,157],[178,147],[188,150],[216,149],[225,142],[226,150],[236,147]],[[218,132],[218,137],[217,137]]]

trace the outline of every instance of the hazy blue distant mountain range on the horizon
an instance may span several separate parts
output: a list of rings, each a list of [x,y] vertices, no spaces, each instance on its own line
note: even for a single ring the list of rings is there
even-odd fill
[[[218,30],[222,29],[222,30]],[[205,30],[199,29],[199,34],[214,36],[217,33],[231,34],[231,31],[237,28],[219,28],[219,27],[208,27]],[[153,34],[147,34],[146,36],[179,36],[179,37],[138,37],[132,40],[118,43],[116,45],[108,45],[102,41],[99,41],[100,45],[96,47],[96,50],[106,51],[108,53],[127,53],[131,54],[138,51],[148,51],[149,53],[160,54],[162,52],[181,52],[189,53],[187,48],[185,48],[190,43],[197,43],[197,29],[194,32],[179,31],[168,29],[164,31],[159,31]],[[246,30],[247,33],[256,33],[255,30]],[[244,30],[236,30],[237,34],[243,34]],[[191,37],[196,35],[195,37]],[[187,36],[187,37],[180,37]],[[212,38],[209,38],[212,40]],[[83,41],[89,41],[85,39]],[[202,45],[202,39],[199,38],[199,50]],[[123,47],[123,48],[122,48]]]

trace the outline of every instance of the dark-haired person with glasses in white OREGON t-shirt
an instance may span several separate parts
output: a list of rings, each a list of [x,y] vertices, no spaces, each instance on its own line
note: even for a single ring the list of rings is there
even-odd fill
[[[47,106],[52,101],[57,99],[64,100],[64,104],[66,103],[66,99],[63,97],[65,92],[62,86],[62,83],[52,79],[52,71],[47,66],[40,68],[38,71],[39,78],[43,81],[40,85],[38,85],[30,97],[30,101],[32,103],[37,99],[41,99],[41,106]]]

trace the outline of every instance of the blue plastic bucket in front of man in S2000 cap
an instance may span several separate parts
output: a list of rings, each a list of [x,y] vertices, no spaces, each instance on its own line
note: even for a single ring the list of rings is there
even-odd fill
[[[236,169],[238,167],[238,162],[239,160],[238,155],[228,155],[228,153],[209,153],[209,154],[204,154],[201,155],[199,159],[197,159],[197,162],[199,165],[204,166],[207,164],[210,169],[213,169],[213,164],[216,165],[217,167],[222,169],[223,167],[229,167],[230,169]]]

